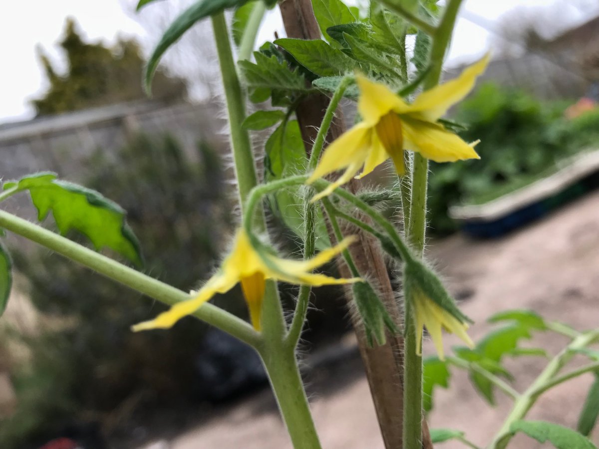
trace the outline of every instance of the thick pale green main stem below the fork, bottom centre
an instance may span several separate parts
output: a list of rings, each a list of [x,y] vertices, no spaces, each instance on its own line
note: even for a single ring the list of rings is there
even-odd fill
[[[294,348],[265,341],[260,355],[294,449],[320,449]]]

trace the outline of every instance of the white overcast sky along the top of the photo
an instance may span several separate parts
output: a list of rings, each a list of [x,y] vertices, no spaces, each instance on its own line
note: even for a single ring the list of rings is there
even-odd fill
[[[74,17],[88,40],[103,39],[112,43],[117,35],[137,36],[148,49],[158,36],[148,36],[132,17],[135,0],[29,0],[13,1],[0,15],[0,122],[29,119],[33,115],[28,101],[43,92],[42,72],[37,63],[35,46],[40,45],[59,68],[60,40],[67,16]],[[559,8],[562,29],[590,19],[599,13],[596,0],[465,0],[461,17],[479,23],[492,21],[515,7]],[[129,8],[125,13],[123,7]],[[161,8],[160,2],[148,8]],[[271,39],[274,30],[282,32],[278,10],[270,11],[259,38]],[[449,60],[468,62],[488,49],[489,32],[464,18],[459,19]]]

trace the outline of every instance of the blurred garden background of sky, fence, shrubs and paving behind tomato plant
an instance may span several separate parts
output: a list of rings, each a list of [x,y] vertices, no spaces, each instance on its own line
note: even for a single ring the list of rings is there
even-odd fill
[[[165,57],[148,99],[144,60],[189,1],[140,14],[136,3],[62,0],[0,19],[0,177],[54,171],[98,190],[128,211],[144,271],[189,290],[217,266],[237,220],[216,53],[209,24],[193,28]],[[276,9],[260,39],[275,31],[285,35]],[[489,48],[476,91],[450,114],[465,139],[481,140],[482,159],[432,164],[431,256],[477,321],[475,338],[505,308],[595,327],[599,5],[466,0],[446,78]],[[5,204],[35,217],[26,196]],[[271,225],[282,230],[274,216]],[[0,447],[288,447],[261,364],[243,344],[193,318],[131,333],[164,307],[7,241],[16,282],[0,320]],[[283,301],[294,293],[283,287]],[[215,302],[247,315],[237,290]],[[304,375],[323,444],[382,448],[341,292],[318,289],[314,304]],[[552,351],[563,341],[539,344]],[[516,386],[543,363],[513,362]],[[589,383],[560,387],[533,414],[571,426]],[[509,409],[501,398],[488,408],[465,376],[435,395],[431,426],[467,430],[481,445]]]

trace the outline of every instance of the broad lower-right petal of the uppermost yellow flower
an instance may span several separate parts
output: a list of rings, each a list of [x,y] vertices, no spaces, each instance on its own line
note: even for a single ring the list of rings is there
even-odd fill
[[[443,126],[422,120],[403,117],[403,131],[406,148],[418,151],[435,162],[455,162],[464,159],[480,159],[473,144],[467,144],[459,136],[447,131]]]

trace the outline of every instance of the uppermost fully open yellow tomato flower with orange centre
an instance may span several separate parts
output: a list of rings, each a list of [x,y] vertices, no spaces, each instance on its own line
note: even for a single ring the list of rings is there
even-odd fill
[[[346,170],[312,201],[347,183],[362,166],[364,169],[356,178],[364,177],[389,158],[393,160],[397,173],[404,175],[404,149],[418,151],[435,162],[480,159],[473,148],[477,142],[467,144],[443,128],[437,120],[472,90],[488,62],[489,54],[465,69],[455,80],[421,93],[412,104],[404,102],[385,84],[374,83],[358,75],[358,112],[362,122],[326,148],[307,182],[310,184],[328,173]]]

